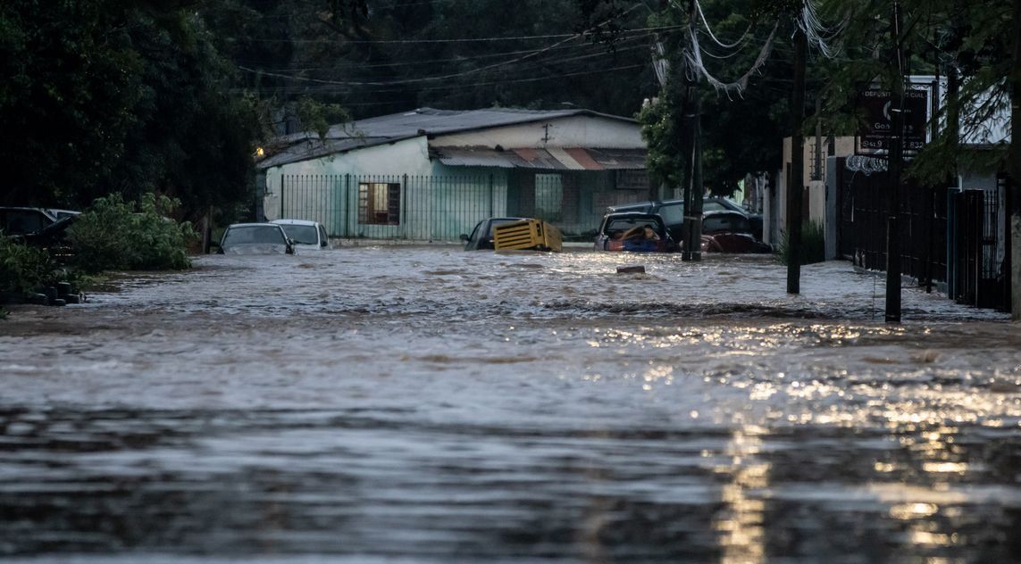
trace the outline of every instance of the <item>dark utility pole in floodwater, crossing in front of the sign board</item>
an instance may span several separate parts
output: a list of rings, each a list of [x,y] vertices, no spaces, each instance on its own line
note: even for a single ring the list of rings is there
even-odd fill
[[[887,171],[889,187],[886,190],[886,322],[901,322],[901,169],[903,168],[904,141],[904,72],[901,65],[901,2],[893,1],[893,19],[890,22],[893,43],[892,88],[890,89],[890,125]]]

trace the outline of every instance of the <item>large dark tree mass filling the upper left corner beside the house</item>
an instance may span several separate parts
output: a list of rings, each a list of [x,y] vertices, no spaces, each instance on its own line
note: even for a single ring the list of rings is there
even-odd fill
[[[246,198],[254,106],[180,2],[13,0],[0,6],[0,55],[5,202],[155,191],[194,215]]]

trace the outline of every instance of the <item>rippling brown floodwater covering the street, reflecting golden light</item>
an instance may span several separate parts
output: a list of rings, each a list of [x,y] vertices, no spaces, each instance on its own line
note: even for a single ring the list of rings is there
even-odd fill
[[[0,559],[1021,560],[1018,325],[785,276],[345,247],[12,308]]]

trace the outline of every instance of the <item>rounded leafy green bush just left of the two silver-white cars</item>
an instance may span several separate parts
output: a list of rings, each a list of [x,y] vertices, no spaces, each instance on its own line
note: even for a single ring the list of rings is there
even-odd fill
[[[98,198],[68,229],[74,264],[101,270],[183,270],[191,266],[188,244],[197,235],[191,223],[169,219],[180,202],[146,194],[138,203],[119,194]]]

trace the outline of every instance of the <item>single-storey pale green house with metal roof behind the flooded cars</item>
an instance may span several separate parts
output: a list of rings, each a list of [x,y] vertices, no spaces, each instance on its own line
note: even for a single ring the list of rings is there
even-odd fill
[[[259,214],[332,237],[455,241],[480,219],[545,219],[584,240],[612,205],[659,197],[631,118],[585,109],[420,108],[275,140]]]

